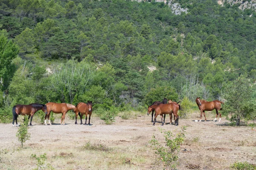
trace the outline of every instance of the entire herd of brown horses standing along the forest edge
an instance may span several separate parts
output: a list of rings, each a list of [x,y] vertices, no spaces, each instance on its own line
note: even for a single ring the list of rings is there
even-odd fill
[[[195,99],[196,104],[198,105],[198,108],[201,112],[201,117],[200,117],[200,121],[202,119],[202,115],[204,113],[204,118],[205,121],[206,119],[206,115],[205,115],[205,111],[212,111],[213,109],[216,110],[216,117],[214,119],[214,121],[216,121],[218,114],[220,115],[220,119],[219,121],[221,121],[221,113],[218,112],[218,110],[221,110],[221,104],[224,104],[221,101],[218,100],[214,100],[214,101],[205,101],[205,100],[201,100],[200,97],[197,97]],[[172,100],[167,100],[166,98],[163,99],[162,102],[160,101],[154,101],[153,104],[151,104],[150,106],[148,106],[148,113],[147,115],[149,115],[150,112],[152,112],[152,118],[151,118],[151,122],[153,122],[153,125],[156,122],[156,118],[157,115],[161,116],[161,121],[162,121],[162,126],[165,122],[165,117],[167,114],[170,115],[170,124],[172,124],[172,115],[174,115],[174,120],[175,120],[175,125],[179,124],[179,115],[178,110],[180,110],[180,101],[175,102]],[[54,113],[62,113],[61,116],[61,124],[65,124],[64,120],[65,120],[65,115],[67,113],[67,111],[69,110],[73,110],[73,112],[76,113],[76,122],[75,124],[77,124],[77,116],[80,116],[80,120],[81,120],[81,124],[82,123],[82,116],[85,115],[85,125],[87,122],[87,115],[89,115],[89,122],[88,125],[90,125],[90,116],[92,114],[92,101],[88,101],[87,103],[79,103],[76,106],[72,105],[72,104],[66,104],[66,103],[53,103],[53,102],[49,102],[47,104],[29,104],[29,105],[22,105],[22,104],[17,104],[16,106],[14,106],[12,108],[12,114],[13,114],[13,121],[12,121],[12,126],[14,127],[14,121],[16,121],[16,126],[18,126],[17,124],[17,117],[18,115],[29,115],[30,119],[30,124],[32,126],[32,118],[35,114],[35,112],[37,112],[38,110],[43,110],[43,112],[45,113],[44,116],[44,124],[47,125],[46,119],[48,118],[49,124],[51,125],[51,122],[49,120],[50,117],[50,113],[54,112]],[[154,115],[155,112],[155,115]],[[153,121],[153,115],[154,115],[154,121]],[[164,118],[163,118],[164,115]]]

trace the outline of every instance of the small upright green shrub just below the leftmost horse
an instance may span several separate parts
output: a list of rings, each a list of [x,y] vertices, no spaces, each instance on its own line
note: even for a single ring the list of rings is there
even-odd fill
[[[16,133],[16,137],[18,138],[18,141],[21,143],[21,147],[23,147],[23,143],[30,138],[30,133],[28,132],[28,123],[29,120],[27,116],[24,117],[24,123],[20,124],[20,127]]]

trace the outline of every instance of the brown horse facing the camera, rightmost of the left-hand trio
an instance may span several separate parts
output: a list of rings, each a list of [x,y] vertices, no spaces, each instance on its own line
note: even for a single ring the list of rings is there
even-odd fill
[[[92,101],[88,101],[87,104],[81,102],[76,105],[76,122],[75,122],[75,124],[77,124],[77,115],[80,116],[81,124],[83,124],[82,117],[85,114],[85,124],[84,125],[86,125],[87,115],[89,115],[88,125],[90,125],[90,116],[92,115],[92,111],[93,111],[92,105],[93,105]]]

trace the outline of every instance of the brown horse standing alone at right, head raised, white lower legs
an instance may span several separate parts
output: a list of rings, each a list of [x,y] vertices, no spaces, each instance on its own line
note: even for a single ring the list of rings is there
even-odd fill
[[[216,110],[216,117],[214,121],[217,120],[218,114],[220,114],[221,121],[221,113],[218,110],[222,110],[221,104],[224,104],[222,101],[214,100],[214,101],[205,101],[201,100],[200,97],[195,99],[196,104],[198,105],[199,110],[201,111],[200,121],[202,120],[202,114],[204,113],[204,118],[206,121],[205,111],[212,111],[213,109]]]

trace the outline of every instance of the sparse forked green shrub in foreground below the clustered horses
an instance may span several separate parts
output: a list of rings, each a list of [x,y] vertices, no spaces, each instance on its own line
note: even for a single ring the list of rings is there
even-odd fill
[[[176,167],[180,145],[185,138],[185,130],[186,127],[183,126],[181,131],[177,133],[175,137],[171,131],[163,131],[163,129],[160,129],[160,132],[164,133],[166,144],[160,144],[155,135],[153,135],[152,140],[149,141],[149,144],[156,150],[155,153],[159,156],[161,161],[163,161],[163,164],[167,169],[169,169],[169,167]]]

